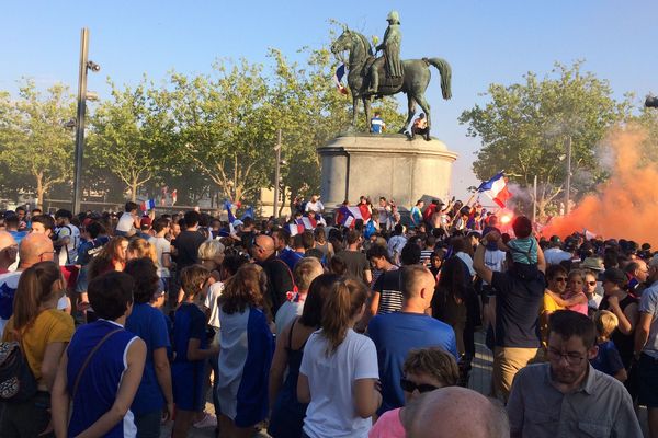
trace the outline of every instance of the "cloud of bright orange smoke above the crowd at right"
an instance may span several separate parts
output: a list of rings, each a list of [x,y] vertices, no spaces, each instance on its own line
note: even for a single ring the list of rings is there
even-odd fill
[[[583,229],[603,239],[634,240],[658,246],[658,163],[642,155],[639,129],[615,130],[608,143],[614,153],[611,177],[566,217],[554,218],[544,235],[566,237]]]

